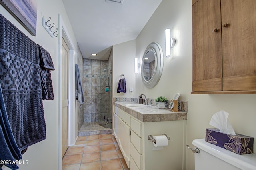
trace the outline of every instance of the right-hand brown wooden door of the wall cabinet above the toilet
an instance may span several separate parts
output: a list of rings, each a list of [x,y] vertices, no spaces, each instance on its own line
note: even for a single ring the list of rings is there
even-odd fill
[[[256,90],[256,1],[221,0],[221,14],[223,91]]]

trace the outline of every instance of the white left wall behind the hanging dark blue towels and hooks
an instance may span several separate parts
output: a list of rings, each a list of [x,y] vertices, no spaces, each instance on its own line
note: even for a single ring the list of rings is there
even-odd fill
[[[58,28],[58,14],[61,14],[64,24],[69,32],[72,44],[75,45],[74,49],[76,51],[76,38],[73,34],[72,26],[70,25],[66,15],[66,10],[62,0],[38,0],[36,37],[27,32],[25,28],[20,25],[1,5],[0,13],[34,42],[44,47],[51,54],[55,67],[55,71],[51,72],[54,100],[43,102],[44,116],[46,120],[46,140],[28,147],[28,150],[25,152],[22,159],[28,160],[28,164],[18,165],[20,167],[19,169],[58,170],[58,102],[60,100],[60,98],[58,98],[58,86],[60,84],[60,82],[58,82],[58,38],[51,38],[48,32],[46,32],[42,27],[42,17],[44,16],[46,19],[48,19],[49,16],[52,17],[51,22],[54,22],[56,26],[54,28]],[[77,122],[77,120],[75,121]],[[60,167],[62,168],[61,165]]]

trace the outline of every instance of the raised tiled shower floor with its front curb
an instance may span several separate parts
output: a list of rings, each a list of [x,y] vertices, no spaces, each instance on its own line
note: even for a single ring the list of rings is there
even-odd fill
[[[111,124],[106,122],[84,122],[78,136],[112,134]]]

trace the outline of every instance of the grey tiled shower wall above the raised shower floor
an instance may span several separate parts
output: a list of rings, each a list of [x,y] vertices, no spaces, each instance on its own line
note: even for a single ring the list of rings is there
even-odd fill
[[[111,118],[108,117],[111,109],[111,90],[105,91],[108,78],[111,86],[110,69],[102,71],[106,67],[109,67],[108,60],[83,60],[84,122],[98,122],[104,121],[104,118]]]

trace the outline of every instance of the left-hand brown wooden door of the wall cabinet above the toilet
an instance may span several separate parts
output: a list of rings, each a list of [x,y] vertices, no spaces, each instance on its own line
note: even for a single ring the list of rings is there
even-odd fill
[[[220,0],[198,0],[192,11],[193,91],[221,91]],[[215,28],[218,32],[213,32]]]

